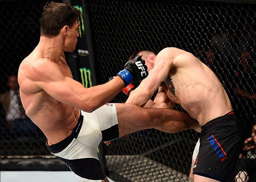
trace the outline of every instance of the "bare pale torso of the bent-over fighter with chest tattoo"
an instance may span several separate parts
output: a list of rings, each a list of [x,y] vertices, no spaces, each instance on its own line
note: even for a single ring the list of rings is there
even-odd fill
[[[228,95],[215,74],[200,60],[184,60],[170,69],[162,88],[172,102],[181,105],[200,125],[232,109]]]

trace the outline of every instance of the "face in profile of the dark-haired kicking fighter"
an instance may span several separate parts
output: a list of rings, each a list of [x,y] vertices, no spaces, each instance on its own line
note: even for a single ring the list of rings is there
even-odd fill
[[[73,52],[76,49],[77,37],[79,36],[79,23],[76,23],[68,29],[68,35],[66,36],[64,43],[64,51]]]

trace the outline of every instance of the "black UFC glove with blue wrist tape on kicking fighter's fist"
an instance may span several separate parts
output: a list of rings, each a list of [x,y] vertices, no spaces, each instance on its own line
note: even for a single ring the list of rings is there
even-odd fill
[[[145,65],[145,60],[141,59],[140,55],[136,55],[134,59],[128,61],[124,69],[117,73],[124,82],[125,87],[133,81],[141,81],[148,76],[148,67]]]

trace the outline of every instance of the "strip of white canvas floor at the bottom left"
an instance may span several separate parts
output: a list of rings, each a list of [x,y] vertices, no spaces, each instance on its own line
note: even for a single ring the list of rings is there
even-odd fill
[[[110,182],[115,182],[108,178]],[[71,171],[1,171],[1,182],[78,182]]]

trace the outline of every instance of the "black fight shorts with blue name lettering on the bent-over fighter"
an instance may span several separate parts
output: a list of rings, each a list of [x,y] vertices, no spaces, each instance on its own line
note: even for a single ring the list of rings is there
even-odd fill
[[[234,112],[201,127],[200,147],[193,174],[227,181],[245,142],[245,129]]]

